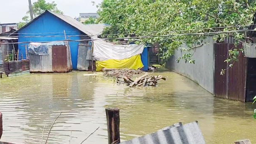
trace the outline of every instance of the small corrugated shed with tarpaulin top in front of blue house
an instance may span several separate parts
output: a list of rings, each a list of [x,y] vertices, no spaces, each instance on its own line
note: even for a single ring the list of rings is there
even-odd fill
[[[28,54],[30,73],[67,73],[72,69],[70,49],[64,42],[31,43]]]

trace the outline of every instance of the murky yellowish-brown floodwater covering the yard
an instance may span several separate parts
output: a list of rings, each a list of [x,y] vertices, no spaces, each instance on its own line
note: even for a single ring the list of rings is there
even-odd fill
[[[49,143],[107,143],[105,108],[120,108],[122,141],[155,132],[177,122],[198,121],[207,144],[256,142],[251,103],[214,98],[199,85],[170,71],[157,87],[129,88],[103,76],[27,74],[0,80],[1,141],[17,144],[44,141],[54,119]],[[69,142],[71,141],[71,142]]]

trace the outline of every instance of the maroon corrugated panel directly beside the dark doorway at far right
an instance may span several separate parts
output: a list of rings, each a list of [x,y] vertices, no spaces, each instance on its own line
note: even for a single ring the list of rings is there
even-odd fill
[[[228,49],[234,48],[234,44],[229,44]],[[242,48],[242,44],[238,49]],[[228,99],[245,102],[246,92],[246,72],[247,58],[241,53],[239,61],[234,63],[233,68],[228,69]]]

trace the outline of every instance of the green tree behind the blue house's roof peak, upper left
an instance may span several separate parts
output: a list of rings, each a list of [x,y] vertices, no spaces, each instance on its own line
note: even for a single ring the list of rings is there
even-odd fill
[[[46,10],[52,11],[52,12],[57,12],[57,13],[61,13],[63,14],[62,11],[60,11],[57,8],[57,4],[55,4],[55,2],[51,2],[51,3],[46,3],[45,0],[37,0],[36,2],[34,2],[32,4],[32,11],[33,11],[33,16],[34,18],[39,16],[40,14],[42,14],[43,12],[45,12]],[[30,21],[30,17],[29,17],[29,10],[27,11],[27,15],[24,16],[22,18],[22,22],[20,22],[18,24],[18,27],[21,28],[23,27],[27,22]]]

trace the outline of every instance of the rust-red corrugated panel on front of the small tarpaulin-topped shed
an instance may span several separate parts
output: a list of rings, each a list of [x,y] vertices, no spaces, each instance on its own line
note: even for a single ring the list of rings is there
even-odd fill
[[[52,71],[67,72],[69,71],[67,65],[67,47],[54,45],[52,46]]]

